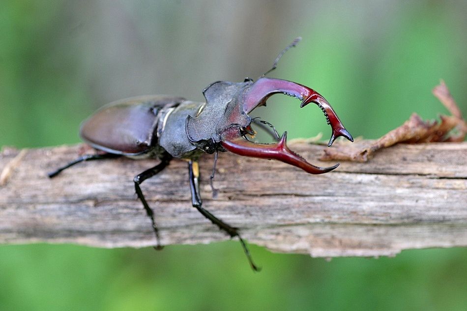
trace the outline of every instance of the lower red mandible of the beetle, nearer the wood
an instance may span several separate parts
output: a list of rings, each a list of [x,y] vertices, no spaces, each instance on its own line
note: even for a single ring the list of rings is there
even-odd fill
[[[280,141],[264,144],[244,139],[239,128],[231,127],[221,133],[221,145],[224,149],[241,156],[279,160],[310,174],[326,173],[339,166],[339,164],[336,164],[332,167],[320,168],[308,163],[300,155],[289,149],[287,146],[287,132],[284,132]]]

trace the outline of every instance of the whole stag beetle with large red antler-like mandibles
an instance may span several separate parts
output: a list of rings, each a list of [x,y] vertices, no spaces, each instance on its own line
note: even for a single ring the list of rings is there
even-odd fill
[[[208,85],[203,90],[205,103],[192,102],[181,97],[148,95],[119,100],[102,107],[84,121],[80,131],[83,141],[100,150],[101,153],[79,157],[49,173],[49,177],[52,178],[62,170],[82,161],[120,156],[134,159],[158,158],[160,160],[158,165],[138,174],[133,181],[136,194],[152,223],[157,241],[155,248],[161,249],[154,213],[146,202],[140,184],[162,171],[173,158],[187,160],[193,207],[232,238],[237,236],[251,267],[258,270],[237,228],[224,223],[203,208],[197,161],[203,153],[214,153],[214,168],[210,176],[213,192],[212,178],[219,151],[230,151],[247,157],[275,159],[311,174],[325,173],[338,167],[339,164],[320,168],[308,163],[288,148],[287,132],[279,138],[272,124],[249,115],[255,108],[265,105],[271,95],[282,93],[299,99],[300,107],[314,103],[321,108],[327,123],[332,128],[328,146],[331,146],[339,136],[353,141],[337,114],[318,92],[294,82],[265,77],[276,68],[279,58],[299,40],[300,38],[297,38],[287,46],[276,58],[272,69],[256,82],[246,78],[240,83],[218,81]],[[249,137],[255,134],[252,124],[272,128],[273,132],[270,131],[270,134],[276,138],[276,143],[264,144],[251,141]]]

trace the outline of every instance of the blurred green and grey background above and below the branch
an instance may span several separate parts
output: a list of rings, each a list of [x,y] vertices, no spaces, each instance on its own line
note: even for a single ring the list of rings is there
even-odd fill
[[[296,36],[270,76],[318,90],[354,137],[446,113],[431,94],[441,78],[466,115],[466,16],[465,0],[2,0],[0,146],[76,143],[81,120],[120,98],[203,100],[211,82],[259,77]],[[317,107],[271,102],[259,113],[279,132],[329,137]],[[261,273],[235,241],[1,246],[0,311],[467,310],[467,249],[330,262],[251,251]]]

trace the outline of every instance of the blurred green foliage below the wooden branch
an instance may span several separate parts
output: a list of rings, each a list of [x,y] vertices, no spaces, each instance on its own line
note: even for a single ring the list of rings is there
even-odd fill
[[[271,254],[238,242],[152,248],[0,248],[1,310],[459,310],[467,249],[395,258]]]

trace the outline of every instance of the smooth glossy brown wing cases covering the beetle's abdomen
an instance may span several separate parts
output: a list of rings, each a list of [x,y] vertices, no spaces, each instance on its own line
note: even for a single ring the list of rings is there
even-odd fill
[[[90,116],[81,125],[80,135],[96,149],[130,156],[143,154],[157,143],[159,111],[182,101],[181,97],[164,95],[118,100]]]

